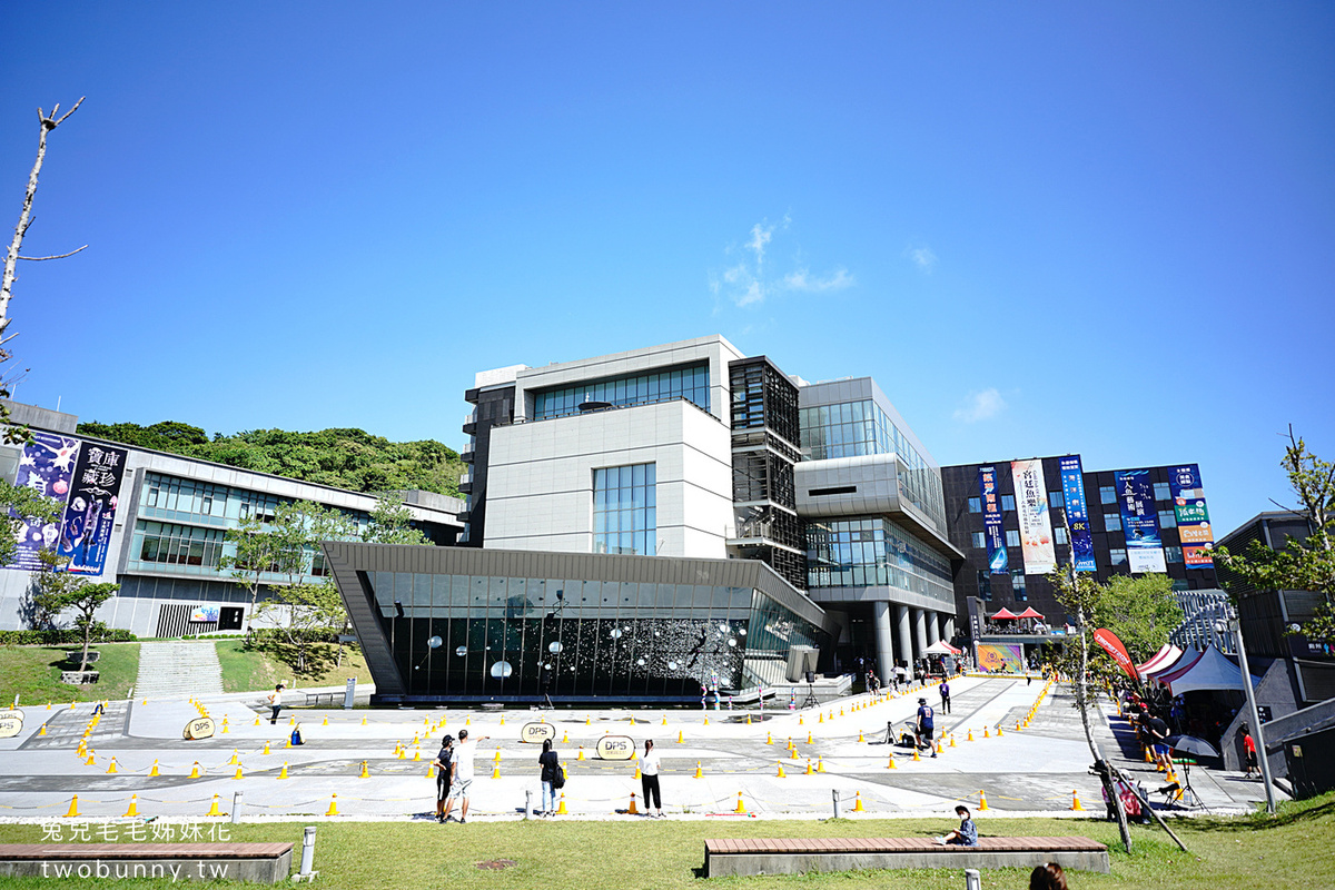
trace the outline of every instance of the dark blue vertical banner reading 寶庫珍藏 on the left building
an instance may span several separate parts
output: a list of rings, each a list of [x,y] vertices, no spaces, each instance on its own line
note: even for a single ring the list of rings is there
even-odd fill
[[[69,486],[69,503],[60,524],[61,556],[67,571],[100,575],[116,522],[120,480],[125,474],[125,450],[84,443]]]

